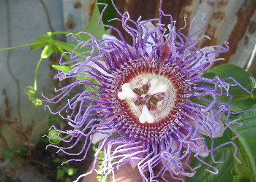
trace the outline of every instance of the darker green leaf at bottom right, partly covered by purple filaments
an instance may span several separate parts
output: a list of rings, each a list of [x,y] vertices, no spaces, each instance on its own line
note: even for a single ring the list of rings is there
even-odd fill
[[[214,146],[219,146],[222,143],[225,143],[227,141],[230,141],[230,131],[226,130],[222,137],[215,138],[214,139]],[[206,143],[209,149],[211,146],[211,139],[206,137]],[[233,151],[232,146],[227,145],[223,146],[220,149],[217,149],[217,151],[213,152],[214,159],[217,162],[221,163],[214,163],[211,159],[211,155],[208,155],[208,157],[200,157],[200,159],[203,159],[204,162],[207,162],[209,165],[212,165],[214,167],[217,167],[219,170],[219,173],[217,175],[208,173],[207,170],[212,170],[207,165],[202,165],[200,161],[197,159],[194,159],[192,162],[192,167],[197,167],[198,165],[202,165],[199,169],[196,170],[195,176],[192,178],[187,178],[188,182],[223,182],[223,181],[233,181],[233,176],[231,175],[230,171],[233,167]]]

